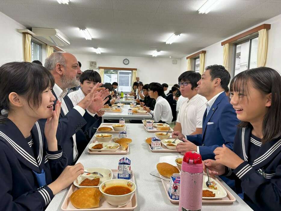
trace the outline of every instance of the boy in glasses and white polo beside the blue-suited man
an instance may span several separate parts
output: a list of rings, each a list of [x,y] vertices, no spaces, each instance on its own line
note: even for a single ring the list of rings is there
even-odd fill
[[[202,134],[202,119],[206,109],[206,98],[197,93],[200,73],[186,71],[178,77],[181,96],[187,98],[182,102],[174,131],[183,134]]]

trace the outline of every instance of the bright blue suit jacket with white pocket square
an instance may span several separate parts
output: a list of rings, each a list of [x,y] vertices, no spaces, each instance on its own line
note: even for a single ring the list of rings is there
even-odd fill
[[[187,135],[187,140],[199,146],[202,160],[214,159],[213,151],[225,144],[232,150],[239,120],[225,92],[221,93],[203,116],[202,134]]]

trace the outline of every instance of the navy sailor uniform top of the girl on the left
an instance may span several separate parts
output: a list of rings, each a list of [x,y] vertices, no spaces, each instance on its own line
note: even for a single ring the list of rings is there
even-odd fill
[[[44,127],[39,122],[31,133],[34,151],[11,120],[0,124],[0,210],[44,210],[54,195],[47,186],[39,187],[33,171],[44,169],[49,185],[67,165],[60,146],[58,151],[48,151]]]

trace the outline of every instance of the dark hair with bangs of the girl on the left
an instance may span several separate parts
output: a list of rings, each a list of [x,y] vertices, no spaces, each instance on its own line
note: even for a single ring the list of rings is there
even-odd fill
[[[42,93],[55,84],[52,74],[43,66],[30,62],[10,62],[0,67],[0,123],[7,116],[1,110],[10,110],[9,94],[16,92],[24,96],[28,105],[38,108],[42,103]]]

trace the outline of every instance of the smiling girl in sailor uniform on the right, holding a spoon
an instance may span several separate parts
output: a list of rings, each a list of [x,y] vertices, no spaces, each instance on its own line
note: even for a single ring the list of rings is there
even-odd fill
[[[230,84],[241,120],[233,151],[223,145],[205,160],[212,175],[236,180],[236,193],[255,211],[281,210],[281,76],[268,67],[245,70]]]

